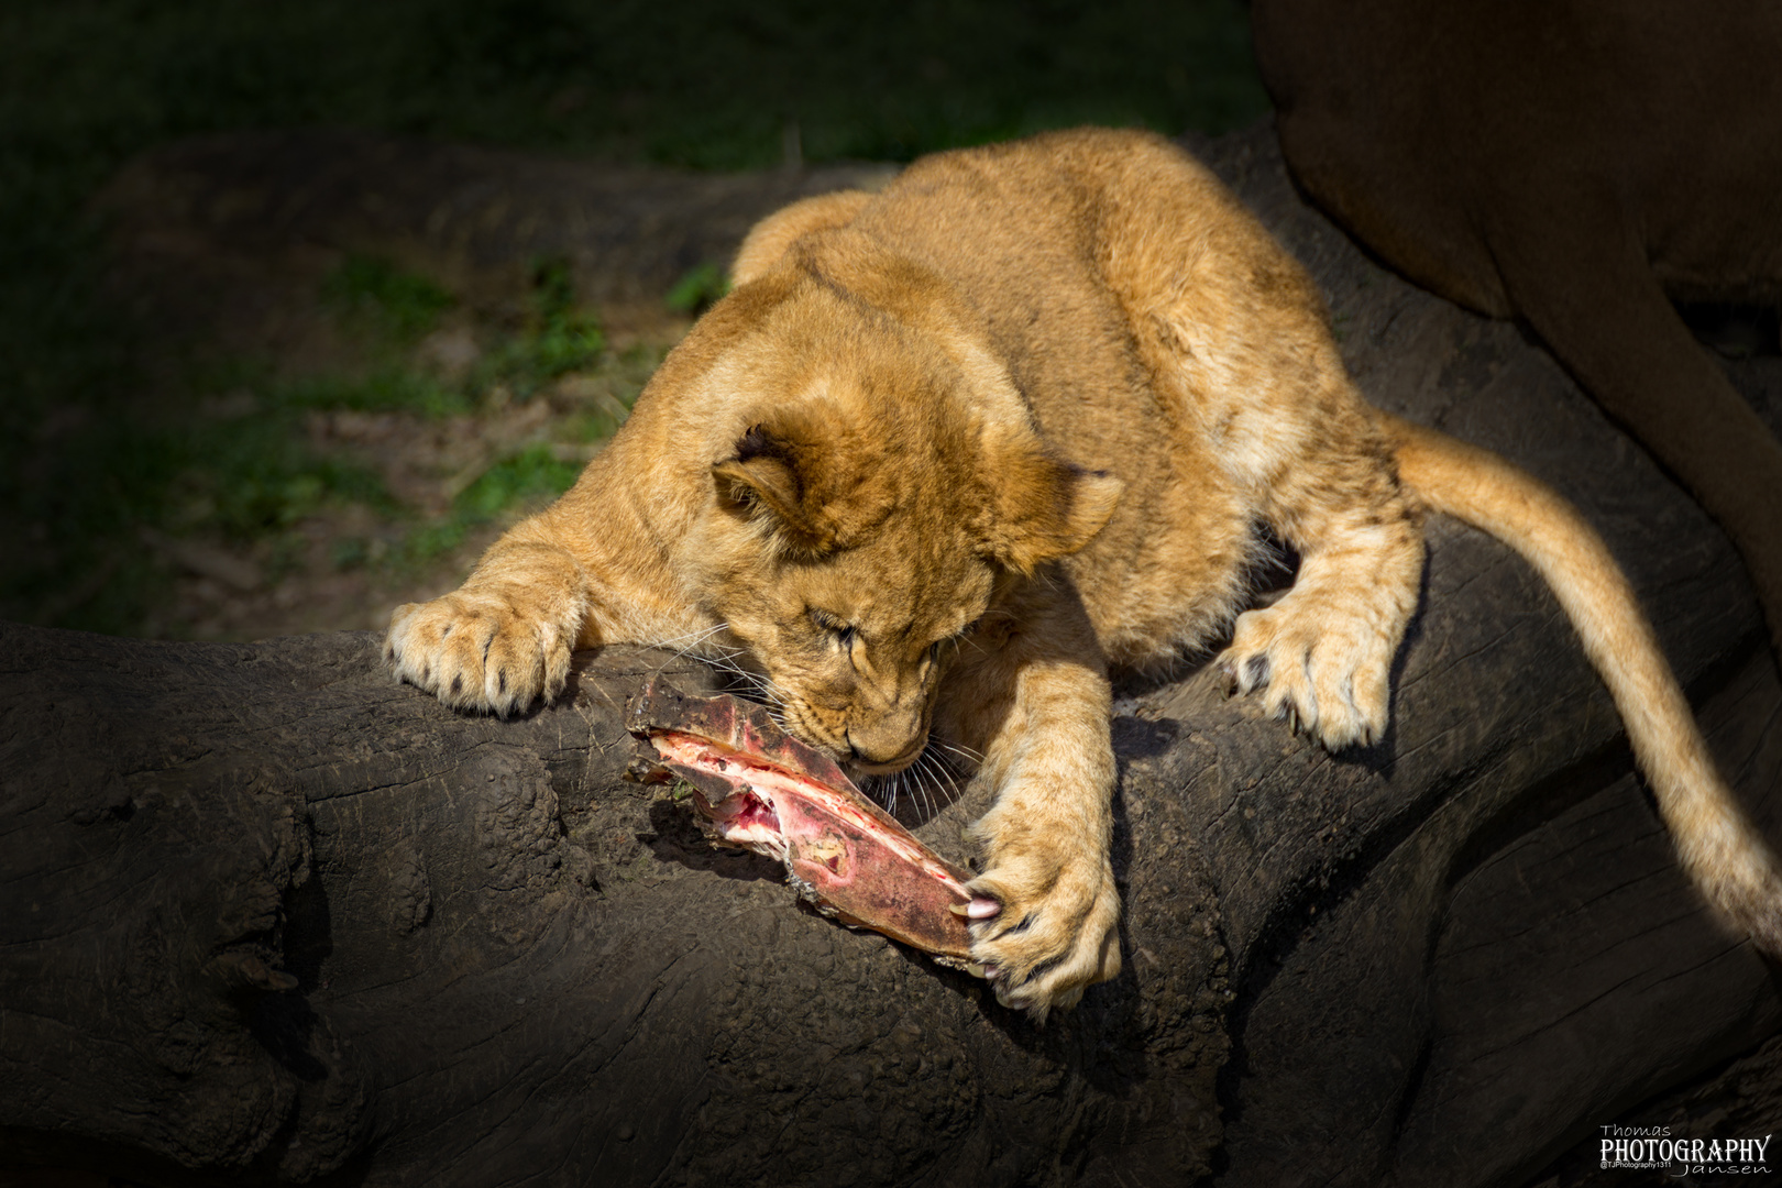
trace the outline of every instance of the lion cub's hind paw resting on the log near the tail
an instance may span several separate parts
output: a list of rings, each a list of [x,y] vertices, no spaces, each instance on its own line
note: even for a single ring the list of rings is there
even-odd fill
[[[1392,639],[1363,620],[1288,595],[1238,614],[1219,670],[1235,693],[1267,689],[1271,714],[1329,750],[1369,746],[1386,732]]]

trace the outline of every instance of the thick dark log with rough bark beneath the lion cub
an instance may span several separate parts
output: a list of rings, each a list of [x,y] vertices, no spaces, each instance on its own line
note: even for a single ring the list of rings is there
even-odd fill
[[[1301,205],[1265,130],[1201,148],[1374,401],[1586,508],[1773,826],[1782,682],[1705,517],[1513,326]],[[1042,1031],[624,782],[618,705],[668,657],[584,655],[495,721],[392,686],[371,636],[7,627],[0,1152],[144,1183],[1520,1183],[1782,999],[1547,591],[1477,533],[1431,545],[1376,748],[1208,673],[1123,688],[1126,971]],[[962,857],[984,807],[920,832]]]

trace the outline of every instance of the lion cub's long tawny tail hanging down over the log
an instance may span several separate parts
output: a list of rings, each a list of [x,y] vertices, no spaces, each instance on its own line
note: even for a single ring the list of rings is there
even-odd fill
[[[1552,586],[1602,673],[1682,867],[1711,903],[1782,956],[1782,871],[1707,753],[1689,704],[1609,549],[1572,504],[1488,451],[1390,413],[1399,476],[1422,502],[1520,552]]]

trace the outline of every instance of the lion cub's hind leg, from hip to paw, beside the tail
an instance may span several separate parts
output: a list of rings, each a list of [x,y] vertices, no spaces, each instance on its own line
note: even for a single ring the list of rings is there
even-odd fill
[[[1221,664],[1333,750],[1377,741],[1417,606],[1420,513],[1299,262],[1180,151],[1124,150],[1101,269],[1173,410],[1174,449],[1222,472],[1301,556],[1285,597],[1237,618]]]

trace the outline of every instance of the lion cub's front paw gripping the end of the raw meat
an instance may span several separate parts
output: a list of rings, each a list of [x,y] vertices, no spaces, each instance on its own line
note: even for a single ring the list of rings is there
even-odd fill
[[[1044,1022],[1051,1008],[1075,1006],[1091,983],[1119,972],[1114,869],[1080,839],[991,850],[991,869],[969,883],[971,960],[998,1003]]]

